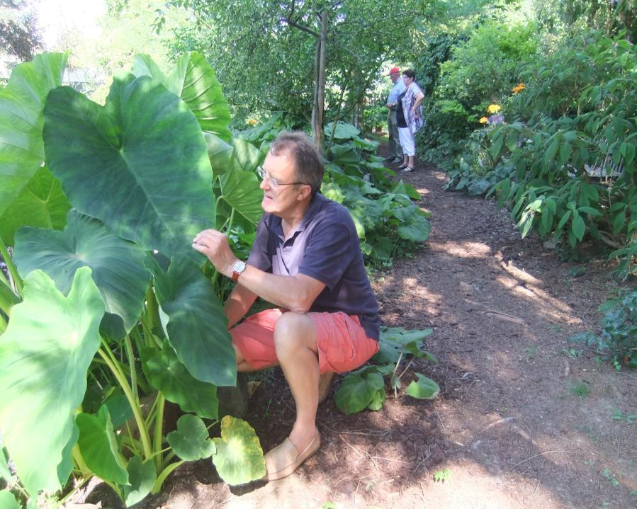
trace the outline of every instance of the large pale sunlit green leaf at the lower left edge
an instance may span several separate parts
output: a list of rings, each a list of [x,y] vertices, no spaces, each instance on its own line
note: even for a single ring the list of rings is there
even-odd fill
[[[18,476],[35,494],[61,487],[57,467],[69,450],[74,411],[100,343],[104,304],[88,267],[77,270],[68,297],[34,270],[23,296],[0,336],[0,433]]]

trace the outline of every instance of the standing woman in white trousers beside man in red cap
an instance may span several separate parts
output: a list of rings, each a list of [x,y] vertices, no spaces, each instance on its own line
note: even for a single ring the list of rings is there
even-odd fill
[[[405,91],[398,97],[402,108],[396,110],[396,123],[398,124],[398,136],[402,147],[402,165],[398,166],[402,171],[414,171],[414,158],[416,156],[415,134],[422,127],[422,107],[424,93],[416,84],[416,74],[412,69],[402,72],[402,83]]]

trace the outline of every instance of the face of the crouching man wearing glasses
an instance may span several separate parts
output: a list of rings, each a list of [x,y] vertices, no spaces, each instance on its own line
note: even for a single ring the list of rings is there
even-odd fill
[[[286,152],[274,156],[270,152],[263,164],[266,177],[259,187],[263,190],[261,208],[279,217],[285,217],[298,205],[298,198],[307,185],[291,185],[298,182],[292,159]],[[275,185],[278,184],[278,185]]]

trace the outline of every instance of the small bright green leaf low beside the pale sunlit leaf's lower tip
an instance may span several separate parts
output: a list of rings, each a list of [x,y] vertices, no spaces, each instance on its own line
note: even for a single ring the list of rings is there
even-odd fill
[[[100,479],[127,484],[126,462],[119,452],[108,408],[102,406],[96,416],[79,413],[75,423],[79,428],[77,445],[86,466]]]

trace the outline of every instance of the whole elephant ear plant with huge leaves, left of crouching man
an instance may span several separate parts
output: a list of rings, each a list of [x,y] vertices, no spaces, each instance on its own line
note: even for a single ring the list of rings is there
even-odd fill
[[[254,430],[220,420],[235,353],[191,248],[204,228],[254,231],[259,154],[231,139],[201,55],[168,75],[138,57],[103,106],[60,86],[66,59],[39,55],[0,91],[0,505],[98,476],[130,506],[210,457],[232,484],[259,479]],[[166,401],[185,414],[167,435]]]

